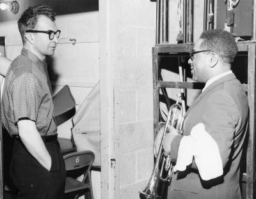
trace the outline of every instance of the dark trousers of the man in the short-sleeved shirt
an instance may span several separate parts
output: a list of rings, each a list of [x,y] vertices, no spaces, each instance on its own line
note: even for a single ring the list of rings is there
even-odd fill
[[[64,196],[66,170],[58,140],[45,141],[52,165],[48,171],[15,139],[10,166],[10,177],[19,199],[60,199]]]

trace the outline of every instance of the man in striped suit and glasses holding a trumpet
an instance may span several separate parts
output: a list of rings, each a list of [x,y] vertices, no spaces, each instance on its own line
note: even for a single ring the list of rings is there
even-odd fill
[[[217,29],[204,31],[190,53],[193,80],[205,87],[186,112],[184,134],[170,127],[164,136],[164,153],[176,161],[168,198],[241,198],[248,99],[231,71],[236,54],[234,36]]]

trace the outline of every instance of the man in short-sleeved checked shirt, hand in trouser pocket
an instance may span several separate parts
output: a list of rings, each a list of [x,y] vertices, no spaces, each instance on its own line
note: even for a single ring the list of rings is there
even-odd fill
[[[18,20],[21,54],[8,69],[2,121],[14,139],[10,177],[17,198],[63,198],[65,164],[57,140],[45,57],[54,55],[60,30],[49,6],[33,6]]]

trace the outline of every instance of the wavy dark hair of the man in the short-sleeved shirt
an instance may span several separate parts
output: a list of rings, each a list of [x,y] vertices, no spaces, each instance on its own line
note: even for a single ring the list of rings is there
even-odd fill
[[[25,41],[26,30],[35,28],[38,16],[40,15],[45,15],[54,21],[56,13],[52,10],[52,8],[45,5],[31,6],[22,13],[20,19],[18,20],[18,27],[23,43]]]

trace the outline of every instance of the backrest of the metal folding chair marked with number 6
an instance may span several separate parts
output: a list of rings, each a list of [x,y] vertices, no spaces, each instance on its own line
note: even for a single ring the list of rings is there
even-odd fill
[[[92,151],[72,152],[63,156],[67,177],[77,177],[84,174],[83,182],[90,172],[95,155]]]

